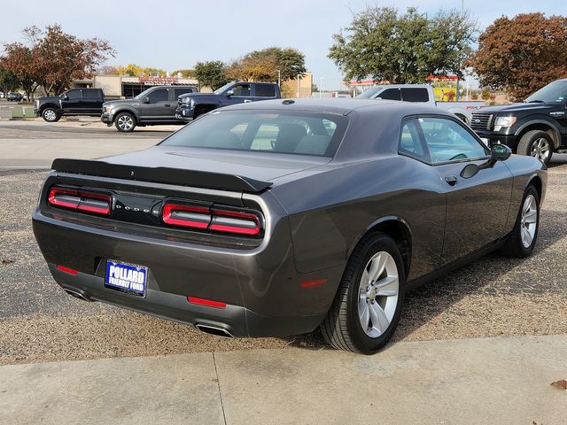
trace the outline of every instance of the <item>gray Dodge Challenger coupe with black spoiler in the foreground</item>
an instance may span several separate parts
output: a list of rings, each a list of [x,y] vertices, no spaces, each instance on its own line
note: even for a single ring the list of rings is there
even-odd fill
[[[546,167],[438,108],[274,100],[163,142],[56,159],[35,237],[69,294],[221,336],[313,331],[377,352],[404,294],[538,236]]]

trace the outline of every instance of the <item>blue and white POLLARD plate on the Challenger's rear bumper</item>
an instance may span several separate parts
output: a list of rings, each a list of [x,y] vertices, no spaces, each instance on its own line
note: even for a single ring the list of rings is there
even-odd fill
[[[106,261],[106,288],[120,290],[137,297],[145,297],[147,282],[148,267],[122,263],[113,259]]]

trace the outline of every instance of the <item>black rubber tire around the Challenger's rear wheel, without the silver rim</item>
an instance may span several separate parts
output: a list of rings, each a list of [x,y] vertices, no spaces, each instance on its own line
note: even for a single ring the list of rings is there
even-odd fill
[[[380,336],[370,337],[362,328],[359,317],[359,285],[369,260],[380,251],[389,253],[395,261],[399,282],[398,298],[390,324]],[[328,344],[338,350],[374,354],[388,343],[398,326],[404,301],[405,282],[403,260],[392,238],[384,233],[365,236],[346,263],[337,295],[321,324],[322,336]]]

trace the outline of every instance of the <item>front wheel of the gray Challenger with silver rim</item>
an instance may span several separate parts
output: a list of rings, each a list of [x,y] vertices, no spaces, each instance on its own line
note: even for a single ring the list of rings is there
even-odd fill
[[[540,229],[540,197],[538,191],[528,186],[517,213],[516,224],[508,241],[502,248],[507,257],[522,259],[532,254]]]

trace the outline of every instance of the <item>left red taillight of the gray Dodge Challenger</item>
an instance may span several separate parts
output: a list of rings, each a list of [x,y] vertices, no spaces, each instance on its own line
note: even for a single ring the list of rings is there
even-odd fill
[[[110,196],[81,189],[51,188],[47,197],[50,205],[60,206],[70,210],[110,214]]]

